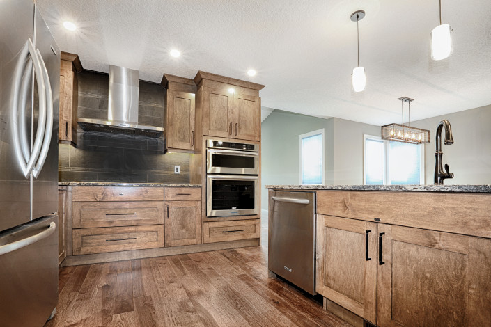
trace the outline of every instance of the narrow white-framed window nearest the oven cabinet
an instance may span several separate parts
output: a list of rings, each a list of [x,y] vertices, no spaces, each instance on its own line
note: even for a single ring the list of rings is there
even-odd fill
[[[298,136],[299,183],[324,184],[324,129]]]

